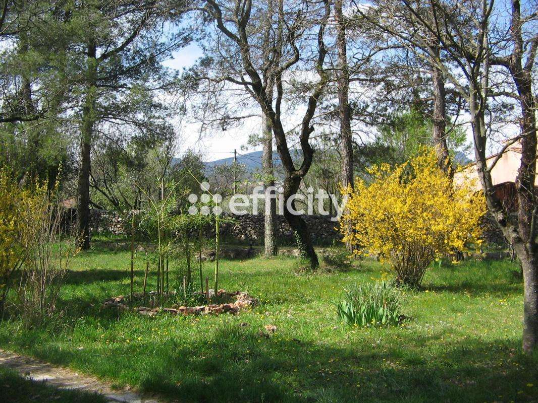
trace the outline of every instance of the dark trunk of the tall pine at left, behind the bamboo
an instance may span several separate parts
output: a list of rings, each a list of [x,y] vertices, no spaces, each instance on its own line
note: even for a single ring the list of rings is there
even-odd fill
[[[97,85],[97,61],[95,44],[88,45],[88,77],[87,92],[82,109],[80,171],[77,183],[77,230],[79,247],[83,250],[90,248],[90,152],[95,124],[95,103]]]

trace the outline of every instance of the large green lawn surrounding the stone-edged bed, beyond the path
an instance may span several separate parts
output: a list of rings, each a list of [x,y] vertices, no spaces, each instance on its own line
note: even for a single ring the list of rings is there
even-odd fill
[[[345,289],[383,276],[380,264],[323,275],[295,275],[294,264],[222,262],[223,288],[260,299],[251,312],[118,318],[100,304],[128,294],[129,252],[84,252],[62,291],[63,315],[32,330],[1,323],[0,347],[187,402],[538,401],[538,359],[520,353],[514,263],[431,270],[424,290],[405,292],[408,321],[391,328],[349,328],[335,314]],[[137,290],[142,269],[140,259]],[[264,325],[277,331],[260,336]]]

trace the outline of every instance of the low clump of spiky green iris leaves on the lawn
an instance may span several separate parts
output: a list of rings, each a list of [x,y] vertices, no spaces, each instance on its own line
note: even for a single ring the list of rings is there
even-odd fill
[[[398,325],[400,293],[388,283],[366,283],[354,287],[337,304],[338,317],[349,326]]]

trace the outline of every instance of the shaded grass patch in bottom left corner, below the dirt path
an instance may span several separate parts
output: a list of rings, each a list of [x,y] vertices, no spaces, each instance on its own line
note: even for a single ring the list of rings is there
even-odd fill
[[[2,403],[105,403],[96,394],[76,390],[61,390],[46,382],[34,382],[19,376],[17,372],[0,366],[0,401]]]

